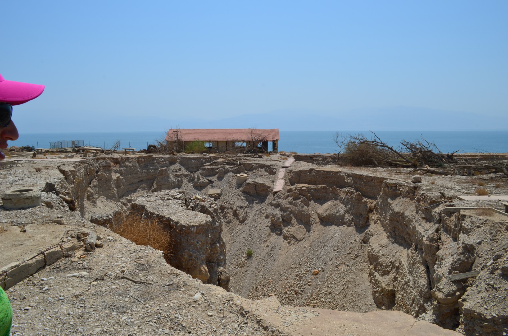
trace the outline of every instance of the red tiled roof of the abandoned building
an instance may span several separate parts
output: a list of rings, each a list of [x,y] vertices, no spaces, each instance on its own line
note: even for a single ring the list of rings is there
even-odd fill
[[[279,140],[279,129],[258,128],[182,128],[170,129],[166,141],[274,141]]]

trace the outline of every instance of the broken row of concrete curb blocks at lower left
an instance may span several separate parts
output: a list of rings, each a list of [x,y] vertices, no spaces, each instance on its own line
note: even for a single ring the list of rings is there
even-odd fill
[[[0,287],[9,289],[28,276],[36,274],[44,266],[51,265],[62,256],[61,244],[57,244],[31,256],[25,261],[12,262],[0,268]]]

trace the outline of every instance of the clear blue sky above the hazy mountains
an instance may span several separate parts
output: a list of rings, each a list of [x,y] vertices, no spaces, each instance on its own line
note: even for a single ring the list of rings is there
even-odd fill
[[[0,11],[0,74],[46,85],[16,108],[18,124],[41,113],[390,106],[508,115],[508,1],[4,1]]]

